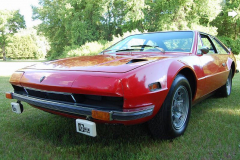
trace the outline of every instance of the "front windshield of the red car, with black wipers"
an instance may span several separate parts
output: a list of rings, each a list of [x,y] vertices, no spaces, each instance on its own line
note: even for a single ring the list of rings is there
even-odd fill
[[[108,51],[165,51],[191,52],[193,32],[158,32],[129,36],[107,49]]]

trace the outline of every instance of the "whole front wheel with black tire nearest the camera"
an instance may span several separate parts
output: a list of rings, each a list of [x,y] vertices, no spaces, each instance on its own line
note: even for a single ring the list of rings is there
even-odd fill
[[[179,74],[175,77],[161,109],[153,119],[148,121],[148,127],[153,137],[173,139],[183,135],[191,114],[191,101],[189,82]],[[175,123],[177,121],[180,124]]]

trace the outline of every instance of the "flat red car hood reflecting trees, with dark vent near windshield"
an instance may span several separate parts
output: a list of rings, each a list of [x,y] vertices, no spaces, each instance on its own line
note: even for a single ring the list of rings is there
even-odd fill
[[[25,69],[121,73],[168,56],[152,54],[114,54],[81,56],[35,64]]]

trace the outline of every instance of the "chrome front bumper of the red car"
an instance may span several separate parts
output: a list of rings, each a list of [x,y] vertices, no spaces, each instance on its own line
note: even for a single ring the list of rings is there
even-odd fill
[[[92,117],[92,111],[97,110],[100,112],[108,113],[110,115],[109,121],[137,120],[137,119],[151,116],[154,110],[154,105],[142,107],[137,110],[127,109],[127,110],[117,111],[117,110],[110,110],[109,108],[99,110],[99,109],[96,109],[97,107],[94,107],[92,105],[67,104],[67,103],[61,103],[61,102],[55,102],[55,101],[48,101],[44,99],[30,97],[27,95],[20,95],[17,93],[11,93],[11,95],[12,95],[12,99],[17,99],[19,101],[23,101],[40,108],[67,113],[67,114],[73,114],[77,116]]]

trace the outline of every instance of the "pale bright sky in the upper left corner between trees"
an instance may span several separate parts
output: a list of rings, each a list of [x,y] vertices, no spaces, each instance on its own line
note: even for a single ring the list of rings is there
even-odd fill
[[[31,5],[38,6],[38,0],[0,0],[0,10],[20,10],[20,14],[24,15],[26,26],[28,28],[41,22],[39,20],[32,20]]]

